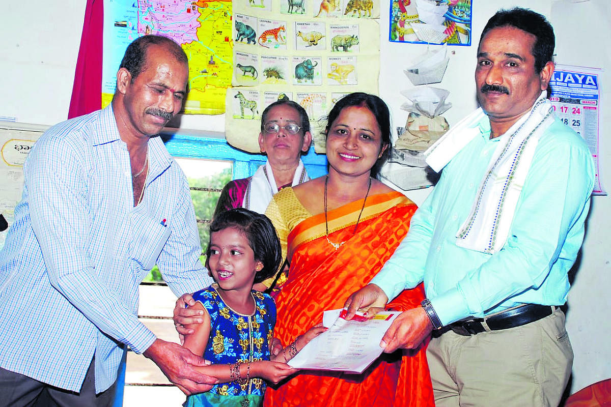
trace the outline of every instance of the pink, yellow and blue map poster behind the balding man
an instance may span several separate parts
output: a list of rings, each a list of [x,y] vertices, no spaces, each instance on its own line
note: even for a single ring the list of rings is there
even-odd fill
[[[185,113],[224,113],[232,76],[231,20],[231,1],[104,0],[102,107],[112,100],[127,46],[157,34],[177,41],[189,58]]]

